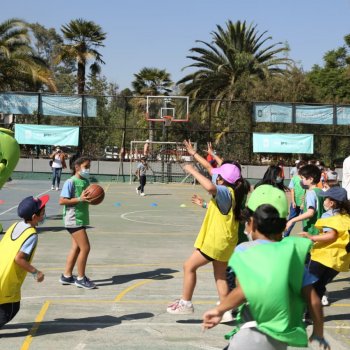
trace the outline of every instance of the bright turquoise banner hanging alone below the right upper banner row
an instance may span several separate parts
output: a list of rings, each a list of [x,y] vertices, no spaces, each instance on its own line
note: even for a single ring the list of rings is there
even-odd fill
[[[254,153],[314,153],[312,134],[253,133]]]

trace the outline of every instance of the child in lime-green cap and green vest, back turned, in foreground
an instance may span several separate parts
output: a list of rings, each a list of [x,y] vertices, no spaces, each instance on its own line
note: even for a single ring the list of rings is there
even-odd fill
[[[288,201],[283,191],[259,186],[250,196],[244,216],[252,240],[238,245],[229,260],[237,287],[216,308],[203,315],[203,327],[216,326],[225,311],[240,305],[242,324],[227,335],[228,350],[286,350],[307,346],[303,313],[308,305],[314,321],[310,341],[330,349],[323,338],[321,302],[305,269],[310,242],[282,239]]]

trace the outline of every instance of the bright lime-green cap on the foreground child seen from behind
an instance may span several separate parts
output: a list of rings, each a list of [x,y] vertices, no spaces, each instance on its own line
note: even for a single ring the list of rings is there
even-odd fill
[[[271,185],[260,185],[249,197],[247,207],[255,211],[260,205],[269,204],[273,206],[281,219],[288,216],[288,200],[286,194]]]

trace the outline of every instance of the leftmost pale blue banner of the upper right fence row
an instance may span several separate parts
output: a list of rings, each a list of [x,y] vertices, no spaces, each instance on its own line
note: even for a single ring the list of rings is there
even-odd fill
[[[257,123],[291,123],[291,104],[254,104],[254,119]]]

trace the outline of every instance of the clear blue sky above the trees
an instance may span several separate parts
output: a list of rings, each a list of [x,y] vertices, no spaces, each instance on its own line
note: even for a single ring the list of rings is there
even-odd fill
[[[349,0],[14,0],[2,6],[0,20],[18,17],[58,31],[71,19],[98,23],[107,32],[103,74],[123,89],[143,67],[166,69],[179,80],[190,72],[182,68],[191,63],[186,56],[195,40],[210,42],[228,19],[253,22],[271,43],[288,42],[290,58],[309,70],[343,45],[349,10]]]

